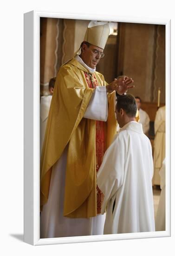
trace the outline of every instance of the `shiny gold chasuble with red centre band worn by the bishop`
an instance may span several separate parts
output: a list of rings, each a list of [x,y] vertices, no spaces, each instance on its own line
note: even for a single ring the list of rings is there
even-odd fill
[[[89,218],[100,213],[103,194],[97,188],[96,175],[116,134],[115,92],[108,95],[106,122],[84,118],[84,113],[94,88],[106,84],[102,74],[88,74],[74,58],[60,67],[41,154],[41,209],[48,200],[52,166],[67,145],[64,216]]]

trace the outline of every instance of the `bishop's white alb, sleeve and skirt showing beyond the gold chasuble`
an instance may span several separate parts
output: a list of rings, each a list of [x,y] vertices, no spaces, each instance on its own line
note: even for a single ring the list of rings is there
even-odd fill
[[[107,117],[106,87],[99,86],[94,90],[84,118],[106,121]],[[103,235],[105,214],[91,218],[63,216],[67,148],[52,168],[49,198],[40,216],[40,238]]]

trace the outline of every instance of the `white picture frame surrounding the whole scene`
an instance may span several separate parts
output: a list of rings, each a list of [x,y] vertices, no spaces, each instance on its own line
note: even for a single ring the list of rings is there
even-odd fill
[[[108,20],[166,26],[166,231],[40,239],[39,51],[40,18]],[[24,14],[24,241],[32,245],[170,236],[170,19],[31,11]]]

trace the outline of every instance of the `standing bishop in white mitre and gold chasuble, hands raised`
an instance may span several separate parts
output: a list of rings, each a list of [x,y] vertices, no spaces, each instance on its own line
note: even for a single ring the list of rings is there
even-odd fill
[[[40,164],[41,238],[103,234],[96,175],[116,134],[115,90],[133,87],[96,72],[109,33],[108,23],[90,22],[81,53],[57,74]]]

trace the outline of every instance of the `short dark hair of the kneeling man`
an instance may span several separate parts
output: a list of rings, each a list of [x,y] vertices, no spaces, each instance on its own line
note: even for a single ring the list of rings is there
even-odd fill
[[[117,111],[119,112],[121,108],[128,116],[136,116],[137,104],[132,94],[123,94],[117,97]]]

